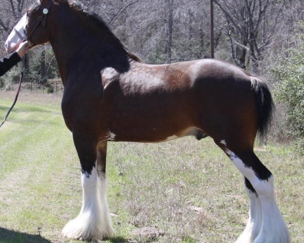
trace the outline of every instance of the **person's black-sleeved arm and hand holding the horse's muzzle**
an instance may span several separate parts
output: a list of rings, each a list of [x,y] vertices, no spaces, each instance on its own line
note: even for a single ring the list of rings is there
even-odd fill
[[[27,42],[23,42],[19,45],[16,52],[6,56],[3,59],[0,59],[0,76],[4,75],[8,70],[15,66],[18,62],[21,61],[23,57],[28,52]]]

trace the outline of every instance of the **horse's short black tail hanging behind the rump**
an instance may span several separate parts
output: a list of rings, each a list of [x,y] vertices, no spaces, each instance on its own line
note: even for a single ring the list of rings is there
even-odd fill
[[[255,95],[255,105],[257,109],[257,133],[262,141],[267,136],[267,132],[270,128],[275,104],[269,88],[265,83],[254,76],[250,76],[250,80]]]

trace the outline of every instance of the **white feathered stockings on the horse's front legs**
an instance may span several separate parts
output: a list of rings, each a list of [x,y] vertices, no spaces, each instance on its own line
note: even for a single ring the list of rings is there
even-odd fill
[[[104,173],[82,174],[83,205],[77,218],[68,222],[62,234],[75,239],[102,239],[112,233],[112,224],[106,201]]]

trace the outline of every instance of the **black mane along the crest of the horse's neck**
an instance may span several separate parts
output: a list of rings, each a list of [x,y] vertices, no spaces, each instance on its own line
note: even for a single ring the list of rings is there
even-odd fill
[[[58,1],[58,0],[57,0]],[[136,62],[141,62],[143,63],[143,61],[141,60],[140,57],[138,57],[137,55],[135,55],[134,53],[130,52],[125,45],[120,41],[119,38],[116,37],[115,34],[113,34],[113,32],[110,30],[110,28],[106,25],[106,23],[104,22],[104,20],[97,14],[92,13],[92,12],[88,12],[84,9],[83,5],[80,2],[77,2],[75,0],[60,0],[60,2],[64,2],[67,3],[72,9],[85,14],[90,20],[92,20],[97,27],[105,30],[109,37],[111,38],[111,41],[113,41],[113,43],[116,43],[117,45],[119,45],[122,49],[125,50],[126,54],[133,59]]]

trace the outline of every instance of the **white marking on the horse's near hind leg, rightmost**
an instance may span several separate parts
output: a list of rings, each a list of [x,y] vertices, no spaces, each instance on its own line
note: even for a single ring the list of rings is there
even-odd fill
[[[260,180],[250,167],[246,167],[243,161],[231,150],[225,149],[234,165],[250,181],[260,199],[262,221],[259,234],[253,243],[290,243],[288,229],[278,209],[274,194],[274,178]],[[255,224],[256,222],[253,222]],[[248,226],[257,229],[258,226]],[[253,232],[253,231],[252,231]],[[239,241],[241,242],[241,241]],[[244,243],[250,241],[243,241]]]

